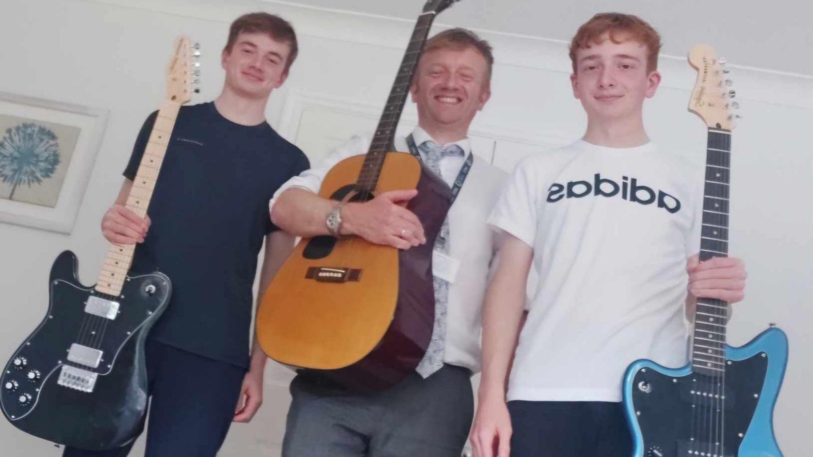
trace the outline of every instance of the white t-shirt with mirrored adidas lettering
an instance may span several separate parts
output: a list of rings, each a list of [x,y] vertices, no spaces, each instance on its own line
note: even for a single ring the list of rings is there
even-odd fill
[[[489,218],[533,247],[539,272],[508,400],[619,402],[633,360],[687,362],[701,182],[652,143],[577,141],[520,162]]]

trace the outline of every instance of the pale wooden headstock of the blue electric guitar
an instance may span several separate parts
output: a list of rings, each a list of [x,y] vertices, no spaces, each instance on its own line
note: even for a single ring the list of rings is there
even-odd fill
[[[708,45],[695,45],[689,50],[689,64],[698,71],[698,81],[692,89],[689,111],[699,115],[711,128],[733,130],[734,110],[739,103],[733,98],[737,93],[733,82],[725,75],[725,60],[717,57],[717,51]]]

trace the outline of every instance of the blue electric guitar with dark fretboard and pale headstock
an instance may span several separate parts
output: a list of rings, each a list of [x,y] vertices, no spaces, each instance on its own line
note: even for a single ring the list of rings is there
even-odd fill
[[[728,255],[728,176],[734,91],[710,46],[694,46],[698,70],[689,111],[708,125],[700,260]],[[691,362],[665,368],[638,360],[624,375],[624,409],[636,457],[778,457],[773,407],[788,340],[771,327],[746,346],[725,341],[728,304],[698,298]]]

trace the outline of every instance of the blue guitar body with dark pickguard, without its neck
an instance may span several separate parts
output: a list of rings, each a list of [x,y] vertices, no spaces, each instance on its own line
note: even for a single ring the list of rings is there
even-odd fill
[[[637,360],[627,368],[624,410],[633,456],[782,455],[773,407],[785,376],[788,338],[772,327],[745,346],[725,347],[723,390],[719,378],[693,371],[690,364],[675,369]]]

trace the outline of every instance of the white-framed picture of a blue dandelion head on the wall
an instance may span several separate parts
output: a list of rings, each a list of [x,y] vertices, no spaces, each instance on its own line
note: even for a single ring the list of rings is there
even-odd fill
[[[71,233],[107,110],[0,92],[0,222]]]

